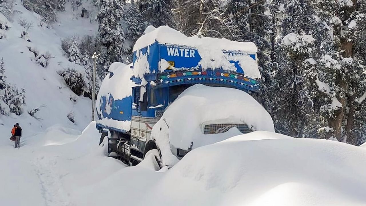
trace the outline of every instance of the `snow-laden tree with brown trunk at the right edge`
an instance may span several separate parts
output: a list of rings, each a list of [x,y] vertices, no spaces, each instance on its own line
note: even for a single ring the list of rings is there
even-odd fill
[[[317,1],[316,8],[331,35],[328,52],[319,61],[324,67],[317,69],[331,95],[321,105],[322,126],[327,138],[360,144],[366,134],[365,1],[324,0]]]

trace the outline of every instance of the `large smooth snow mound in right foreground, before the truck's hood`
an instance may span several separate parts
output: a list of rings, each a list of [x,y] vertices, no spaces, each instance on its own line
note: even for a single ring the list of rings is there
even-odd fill
[[[265,139],[244,140],[258,135]],[[271,132],[244,136],[189,152],[138,205],[365,205],[366,150]]]

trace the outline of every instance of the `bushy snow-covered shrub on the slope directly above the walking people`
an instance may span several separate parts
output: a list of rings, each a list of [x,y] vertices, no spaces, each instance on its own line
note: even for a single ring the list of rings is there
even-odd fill
[[[25,89],[18,90],[14,85],[7,85],[4,90],[4,102],[9,106],[10,112],[20,115],[23,113],[23,104],[25,104]]]

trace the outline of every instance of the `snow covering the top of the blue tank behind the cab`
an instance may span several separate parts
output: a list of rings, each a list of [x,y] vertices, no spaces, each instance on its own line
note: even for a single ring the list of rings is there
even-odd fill
[[[125,65],[124,63],[114,62],[109,67],[109,74],[105,76],[100,86],[98,96],[97,96],[97,111],[101,114],[100,103],[101,98],[109,99],[109,95],[112,95],[114,100],[123,99],[125,97],[132,95],[131,87],[134,83],[131,80],[132,69],[130,68],[132,64]]]

